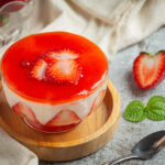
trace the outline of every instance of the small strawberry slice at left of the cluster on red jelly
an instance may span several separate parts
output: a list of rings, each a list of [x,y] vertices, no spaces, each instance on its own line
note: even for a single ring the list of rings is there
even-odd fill
[[[45,79],[46,67],[47,63],[42,58],[37,58],[36,62],[33,64],[30,76],[37,80]]]

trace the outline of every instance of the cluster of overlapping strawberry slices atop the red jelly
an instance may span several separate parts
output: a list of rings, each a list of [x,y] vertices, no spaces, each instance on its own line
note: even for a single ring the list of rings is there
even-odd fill
[[[77,85],[81,68],[76,58],[78,54],[69,50],[47,51],[33,63],[30,76],[37,80]]]

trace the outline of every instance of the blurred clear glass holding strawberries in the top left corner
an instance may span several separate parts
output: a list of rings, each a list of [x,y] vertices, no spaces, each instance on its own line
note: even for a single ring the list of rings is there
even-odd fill
[[[34,0],[3,0],[0,2],[0,47],[15,41],[23,23],[32,14]]]

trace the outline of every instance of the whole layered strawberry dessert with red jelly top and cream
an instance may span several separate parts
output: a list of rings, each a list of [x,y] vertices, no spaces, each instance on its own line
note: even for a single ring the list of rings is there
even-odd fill
[[[102,101],[108,62],[89,40],[67,33],[33,34],[14,43],[1,61],[9,106],[32,128],[64,132]]]

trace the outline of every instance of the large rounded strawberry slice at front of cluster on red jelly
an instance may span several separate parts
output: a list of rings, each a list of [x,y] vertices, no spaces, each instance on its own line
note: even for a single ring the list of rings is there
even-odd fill
[[[48,65],[46,76],[58,84],[69,82],[76,85],[80,78],[80,67],[73,59],[56,61]]]

